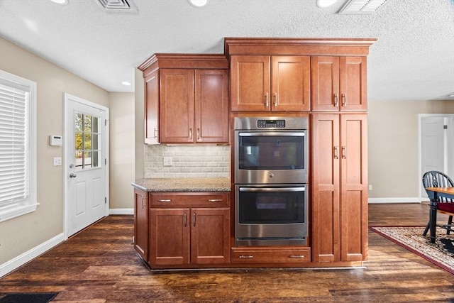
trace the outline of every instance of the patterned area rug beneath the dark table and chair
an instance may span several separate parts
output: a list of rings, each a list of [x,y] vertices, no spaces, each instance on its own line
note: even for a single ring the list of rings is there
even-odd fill
[[[388,238],[403,248],[420,255],[431,263],[454,274],[454,235],[437,228],[436,242],[430,243],[429,236],[423,237],[424,227],[370,227],[372,231]]]

